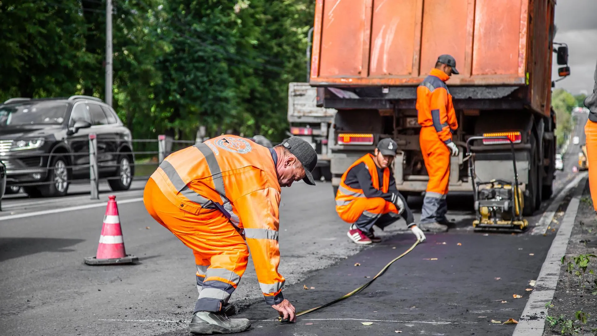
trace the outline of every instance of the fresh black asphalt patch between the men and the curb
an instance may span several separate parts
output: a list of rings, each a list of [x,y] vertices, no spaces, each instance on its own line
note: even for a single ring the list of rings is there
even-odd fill
[[[530,294],[525,289],[533,288],[528,283],[536,279],[552,239],[528,234],[429,234],[426,242],[396,261],[364,291],[300,316],[295,324],[273,320],[276,311],[264,303],[235,317],[254,321],[247,335],[387,335],[396,331],[402,331],[401,335],[512,335],[515,325],[491,320],[519,319]],[[284,297],[297,311],[325,304],[363,285],[413,243],[411,235],[399,234],[316,271],[285,289]],[[357,262],[360,266],[355,266]],[[303,285],[314,289],[306,290]],[[522,298],[513,298],[513,294]],[[367,321],[373,324],[361,323]]]

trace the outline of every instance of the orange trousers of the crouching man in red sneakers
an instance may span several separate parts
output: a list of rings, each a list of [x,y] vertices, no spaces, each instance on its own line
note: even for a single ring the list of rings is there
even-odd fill
[[[336,211],[343,221],[354,223],[364,232],[371,230],[373,225],[383,229],[400,217],[396,206],[381,197],[356,197],[349,204],[337,206]]]

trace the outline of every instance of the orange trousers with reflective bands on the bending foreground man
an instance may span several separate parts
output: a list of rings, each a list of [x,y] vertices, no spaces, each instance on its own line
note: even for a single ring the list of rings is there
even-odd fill
[[[199,298],[197,311],[220,311],[247,269],[247,243],[217,209],[186,212],[172,204],[149,179],[143,193],[147,212],[193,250]]]

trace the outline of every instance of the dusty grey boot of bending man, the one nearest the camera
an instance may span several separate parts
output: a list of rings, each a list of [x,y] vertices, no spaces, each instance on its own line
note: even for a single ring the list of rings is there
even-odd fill
[[[197,311],[189,323],[190,333],[194,335],[233,334],[250,326],[248,319],[230,319],[213,311]]]

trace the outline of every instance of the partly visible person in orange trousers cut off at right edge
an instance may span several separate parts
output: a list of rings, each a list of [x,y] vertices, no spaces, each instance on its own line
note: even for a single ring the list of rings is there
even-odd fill
[[[587,144],[587,164],[589,165],[589,188],[593,209],[597,214],[597,66],[595,67],[593,94],[584,99],[584,107],[589,109],[589,119],[584,125]]]

